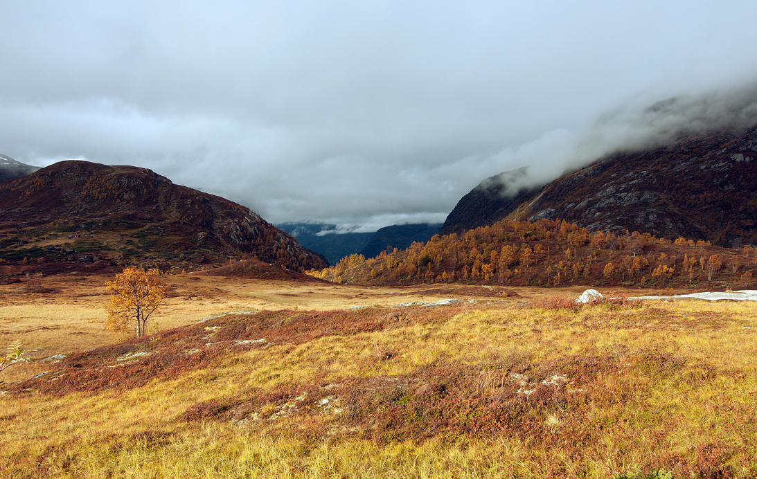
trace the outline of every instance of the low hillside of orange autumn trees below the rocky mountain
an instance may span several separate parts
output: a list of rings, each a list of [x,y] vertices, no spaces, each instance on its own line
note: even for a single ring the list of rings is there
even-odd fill
[[[307,273],[357,285],[455,283],[657,287],[727,281],[752,283],[757,249],[639,232],[589,232],[564,220],[503,219],[462,235],[435,235],[406,250],[366,259],[353,254]]]

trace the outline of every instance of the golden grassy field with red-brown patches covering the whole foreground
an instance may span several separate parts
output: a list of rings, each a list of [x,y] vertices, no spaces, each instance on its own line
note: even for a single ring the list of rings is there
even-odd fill
[[[172,276],[120,343],[104,278],[45,281],[0,287],[0,339],[67,354],[2,373],[0,477],[757,476],[752,303]]]

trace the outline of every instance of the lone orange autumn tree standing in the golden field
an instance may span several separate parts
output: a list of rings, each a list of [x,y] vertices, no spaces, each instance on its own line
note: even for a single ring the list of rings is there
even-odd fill
[[[163,304],[166,288],[161,284],[157,269],[142,269],[126,266],[116,275],[115,281],[107,281],[111,302],[107,305],[105,327],[117,334],[126,334],[130,326],[136,326],[137,337],[145,335],[145,325],[152,313]]]

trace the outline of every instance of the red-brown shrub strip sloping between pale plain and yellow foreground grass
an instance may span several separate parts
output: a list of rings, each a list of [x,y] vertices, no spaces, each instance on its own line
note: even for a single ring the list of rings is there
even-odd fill
[[[307,312],[285,309],[223,316],[138,337],[115,347],[73,354],[45,375],[15,383],[11,390],[61,395],[73,391],[131,389],[154,379],[176,378],[210,367],[235,350],[301,344],[324,336],[438,322],[459,311],[459,307],[409,306]]]

